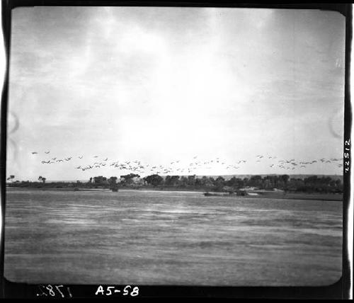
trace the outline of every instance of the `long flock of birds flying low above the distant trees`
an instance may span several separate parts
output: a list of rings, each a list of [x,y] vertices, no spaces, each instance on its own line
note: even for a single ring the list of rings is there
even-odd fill
[[[37,155],[38,151],[32,151],[33,155]],[[50,154],[50,151],[44,151],[44,154]],[[118,168],[120,171],[130,171],[133,173],[140,173],[140,174],[176,174],[176,175],[183,175],[183,174],[190,174],[198,171],[200,169],[211,169],[215,168],[215,166],[219,166],[227,171],[235,171],[241,166],[246,163],[251,163],[251,160],[245,159],[238,159],[234,161],[234,163],[227,163],[227,161],[222,161],[219,158],[215,159],[207,159],[201,160],[198,156],[194,156],[191,161],[187,164],[183,164],[181,160],[174,160],[171,161],[167,165],[151,165],[145,164],[143,161],[134,160],[134,161],[116,161],[112,159],[108,159],[108,157],[101,157],[101,156],[85,156],[79,155],[73,158],[73,156],[67,156],[59,159],[57,156],[50,156],[49,159],[42,159],[42,164],[59,164],[61,162],[74,162],[74,159],[79,159],[81,161],[89,162],[89,164],[81,164],[79,166],[73,166],[76,169],[81,171],[86,171],[94,168]],[[79,161],[78,160],[78,161]],[[266,163],[266,162],[268,163]],[[256,158],[253,161],[255,164],[259,162],[263,162],[265,165],[269,166],[270,168],[280,168],[285,171],[294,171],[297,167],[299,168],[307,168],[308,166],[312,166],[316,163],[319,164],[334,164],[339,168],[343,167],[343,158],[336,159],[312,159],[309,161],[295,161],[295,159],[277,159],[277,156],[263,156],[261,154],[256,155]],[[269,163],[271,162],[271,163]],[[230,171],[230,173],[231,173]]]

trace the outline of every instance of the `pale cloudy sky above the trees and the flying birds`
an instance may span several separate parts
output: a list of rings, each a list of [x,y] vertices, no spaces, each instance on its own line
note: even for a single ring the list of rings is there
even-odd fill
[[[105,158],[225,163],[200,166],[197,175],[343,171],[341,162],[270,167],[343,157],[339,13],[43,6],[12,16],[8,175],[84,180],[130,172],[75,168]],[[247,162],[225,168],[239,159]]]

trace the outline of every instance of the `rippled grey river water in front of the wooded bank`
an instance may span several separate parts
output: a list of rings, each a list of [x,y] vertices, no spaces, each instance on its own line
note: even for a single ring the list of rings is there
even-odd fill
[[[135,285],[329,285],[342,202],[8,190],[5,277]]]

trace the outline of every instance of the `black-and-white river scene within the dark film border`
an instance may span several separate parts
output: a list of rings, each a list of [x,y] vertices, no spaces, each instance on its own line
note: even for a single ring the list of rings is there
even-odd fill
[[[337,11],[13,8],[4,278],[338,282],[345,56]]]

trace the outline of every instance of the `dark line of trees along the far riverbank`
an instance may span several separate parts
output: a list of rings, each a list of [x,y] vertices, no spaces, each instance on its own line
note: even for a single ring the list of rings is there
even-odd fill
[[[183,190],[205,190],[232,192],[242,188],[258,188],[261,190],[280,189],[287,192],[301,193],[343,193],[343,183],[340,179],[330,177],[309,176],[308,178],[290,178],[288,175],[272,176],[251,176],[250,178],[230,178],[225,180],[222,176],[217,178],[203,176],[159,176],[157,174],[140,178],[135,173],[106,178],[96,176],[90,178],[88,182],[52,182],[45,183],[30,181],[14,181],[8,183],[13,187],[31,188],[175,188]]]

